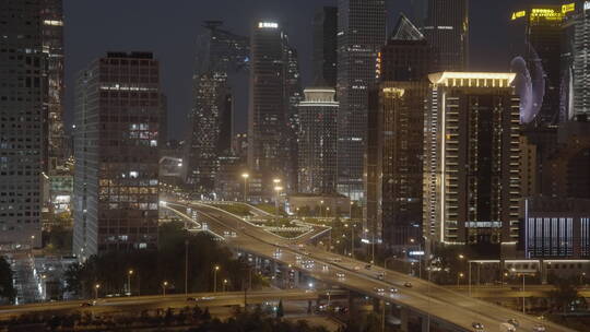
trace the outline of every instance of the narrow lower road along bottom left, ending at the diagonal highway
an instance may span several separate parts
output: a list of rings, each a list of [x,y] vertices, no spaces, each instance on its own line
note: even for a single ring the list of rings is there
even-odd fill
[[[305,290],[262,290],[248,292],[248,304],[261,304],[264,301],[293,301],[293,300],[315,300],[319,296],[315,292]],[[188,297],[194,300],[187,300]],[[110,297],[99,298],[93,306],[83,306],[93,303],[92,300],[55,301],[38,303],[23,306],[3,306],[0,307],[0,320],[8,320],[12,317],[19,317],[25,313],[44,312],[67,312],[73,310],[92,311],[94,313],[122,311],[129,309],[166,309],[184,308],[198,304],[200,307],[224,307],[244,305],[244,292],[226,293],[194,293],[187,295],[167,295],[167,296],[131,296],[131,297]]]

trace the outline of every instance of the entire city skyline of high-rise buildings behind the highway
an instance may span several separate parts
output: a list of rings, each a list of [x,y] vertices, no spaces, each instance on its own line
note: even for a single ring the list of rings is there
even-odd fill
[[[318,7],[307,55],[286,22],[205,21],[180,142],[158,60],[109,51],[76,78],[72,158],[61,0],[0,1],[0,245],[38,246],[72,210],[82,260],[155,248],[174,183],[205,200],[347,197],[388,253],[590,257],[590,3],[507,16],[518,42],[499,72],[470,68],[469,3],[413,0],[392,28],[385,0]]]

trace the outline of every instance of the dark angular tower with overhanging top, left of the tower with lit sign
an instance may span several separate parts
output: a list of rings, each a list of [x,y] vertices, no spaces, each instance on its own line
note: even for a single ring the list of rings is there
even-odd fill
[[[193,107],[189,115],[186,146],[187,183],[198,193],[211,193],[219,169],[220,150],[226,131],[232,131],[232,75],[249,64],[249,38],[221,28],[223,23],[208,21],[199,36],[197,68],[193,75]],[[229,121],[229,122],[227,122]]]

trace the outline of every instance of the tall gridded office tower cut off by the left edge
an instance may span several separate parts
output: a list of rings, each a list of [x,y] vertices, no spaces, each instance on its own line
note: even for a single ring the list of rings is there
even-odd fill
[[[40,1],[0,1],[0,245],[40,245],[47,54]]]

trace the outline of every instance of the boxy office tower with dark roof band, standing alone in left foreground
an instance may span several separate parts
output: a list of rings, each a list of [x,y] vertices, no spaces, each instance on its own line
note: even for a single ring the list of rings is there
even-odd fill
[[[158,61],[109,52],[80,73],[75,97],[74,254],[156,248]]]

